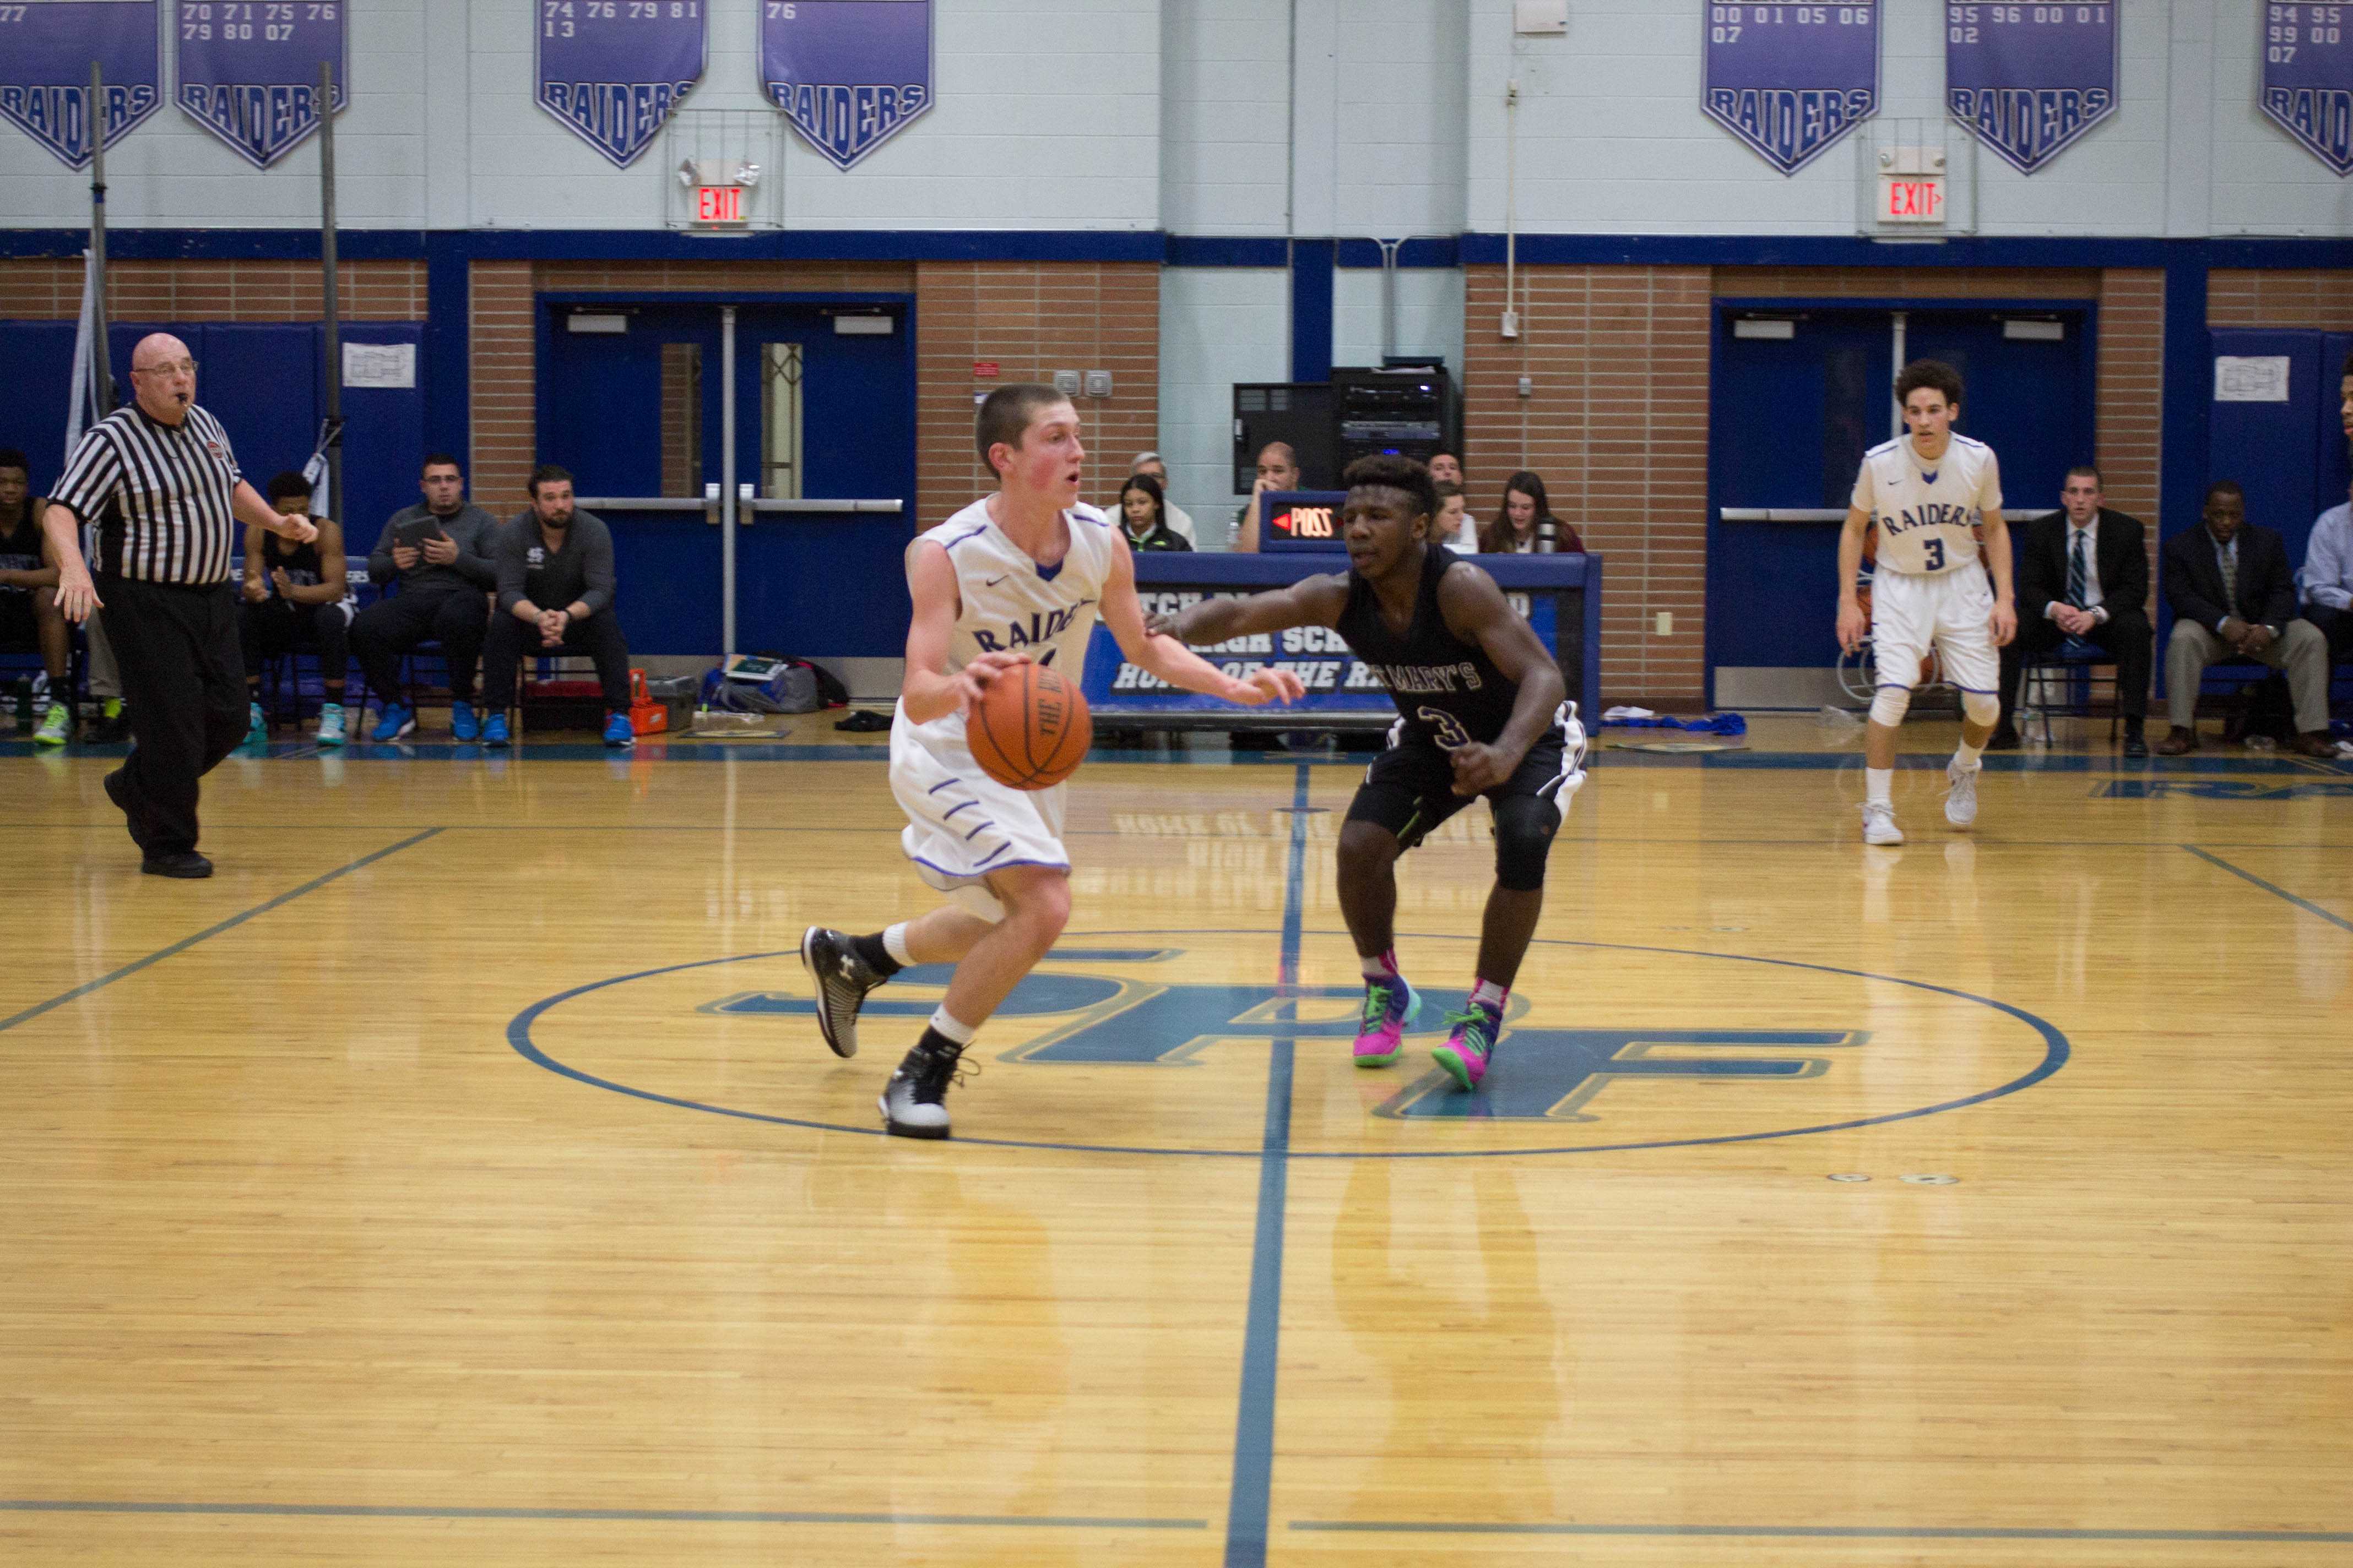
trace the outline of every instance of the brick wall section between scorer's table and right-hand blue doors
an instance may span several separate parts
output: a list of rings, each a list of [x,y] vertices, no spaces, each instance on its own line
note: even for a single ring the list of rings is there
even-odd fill
[[[1602,696],[1697,705],[1706,693],[1708,268],[1520,268],[1504,341],[1504,268],[1466,268],[1464,465],[1494,517],[1515,468],[1607,557]],[[1527,376],[1534,395],[1520,397]],[[1661,637],[1654,618],[1673,611]]]

